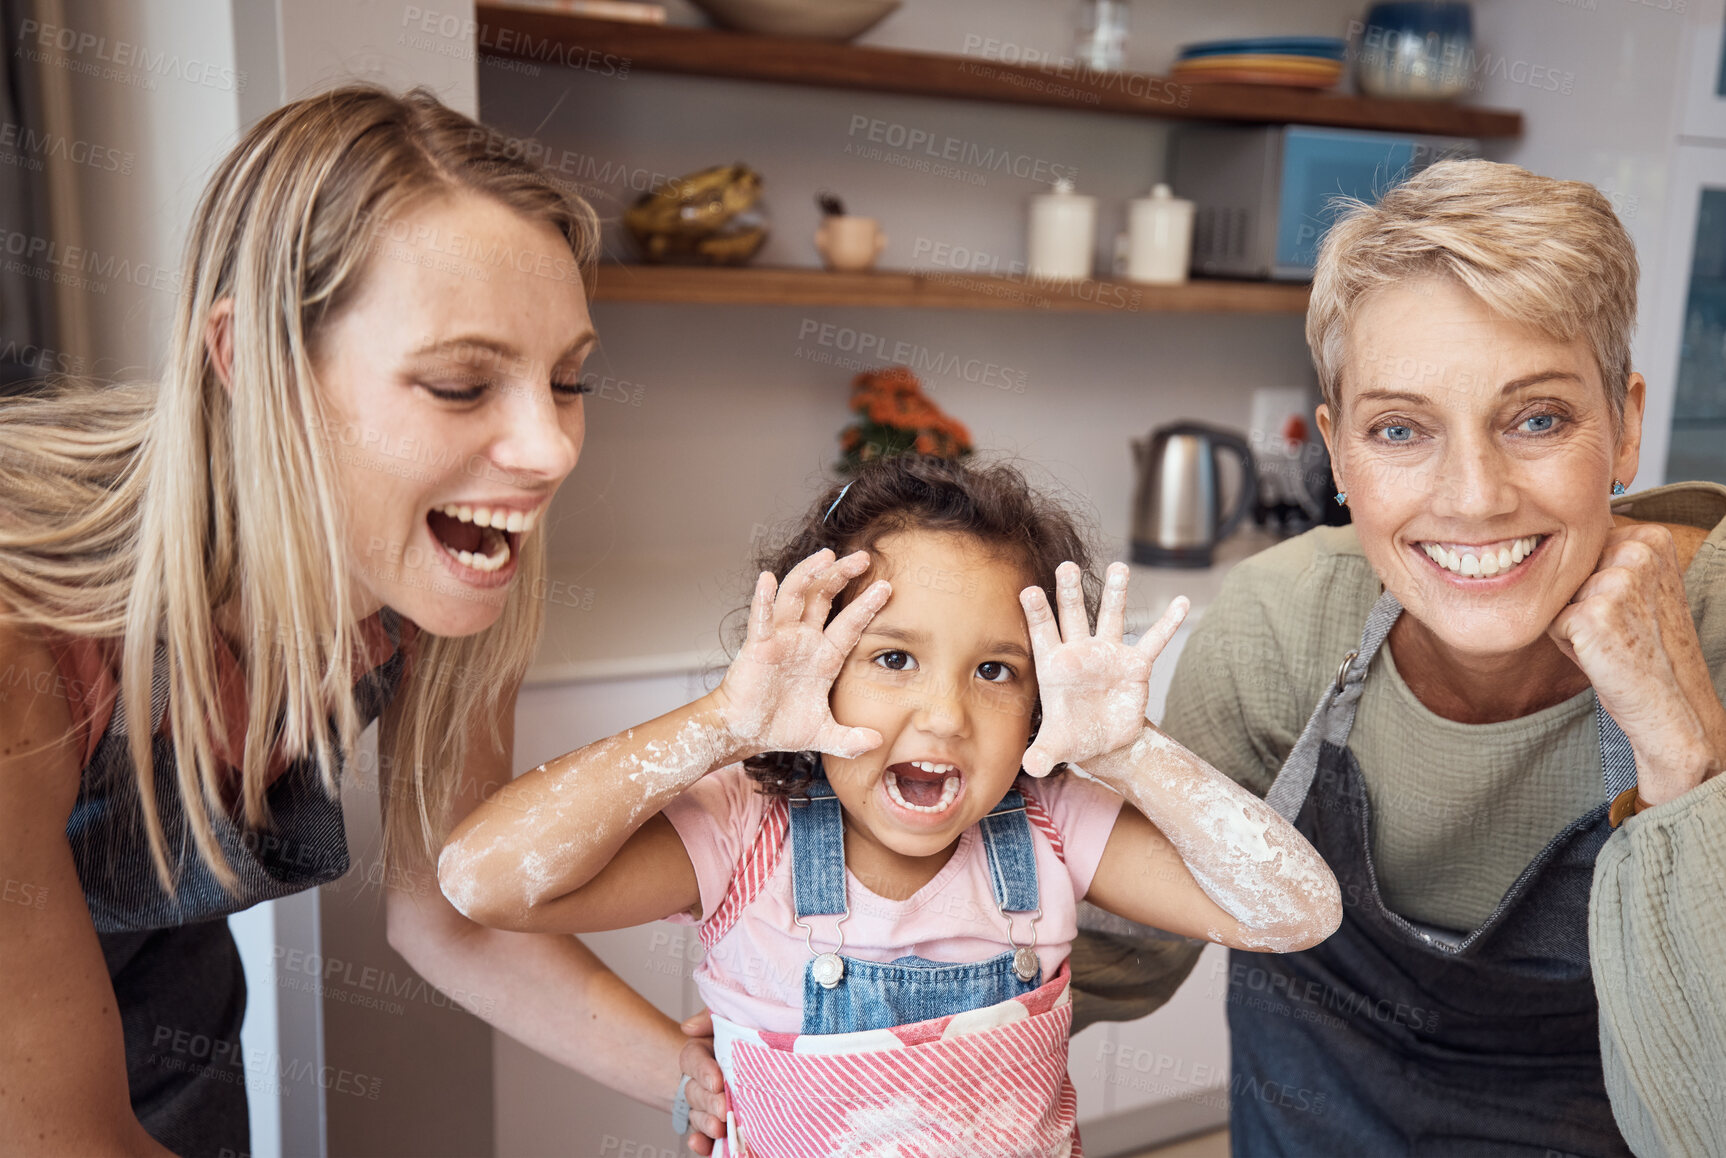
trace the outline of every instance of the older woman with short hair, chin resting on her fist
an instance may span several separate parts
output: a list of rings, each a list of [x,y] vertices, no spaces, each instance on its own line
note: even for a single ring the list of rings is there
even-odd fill
[[[1635,312],[1607,200],[1514,166],[1326,238],[1353,525],[1231,571],[1163,723],[1343,885],[1324,944],[1232,954],[1236,1155],[1726,1153],[1726,487],[1624,494]]]

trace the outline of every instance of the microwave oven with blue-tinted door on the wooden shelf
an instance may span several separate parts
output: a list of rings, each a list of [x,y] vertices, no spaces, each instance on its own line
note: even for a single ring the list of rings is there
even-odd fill
[[[1372,202],[1434,160],[1476,155],[1458,136],[1182,124],[1169,181],[1193,200],[1193,273],[1310,281],[1334,198]]]

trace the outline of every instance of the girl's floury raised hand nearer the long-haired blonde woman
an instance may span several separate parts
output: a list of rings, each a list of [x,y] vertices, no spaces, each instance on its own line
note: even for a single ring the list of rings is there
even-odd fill
[[[868,552],[834,559],[822,549],[784,583],[761,573],[749,604],[749,637],[715,690],[739,749],[854,758],[880,746],[873,728],[839,725],[827,702],[846,656],[891,594],[887,582],[877,580],[827,623],[834,597],[866,570]]]

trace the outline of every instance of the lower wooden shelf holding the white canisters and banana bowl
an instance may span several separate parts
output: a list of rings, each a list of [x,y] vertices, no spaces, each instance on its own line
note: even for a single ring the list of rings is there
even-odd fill
[[[898,309],[1046,309],[1051,312],[1300,314],[1305,285],[1222,281],[1041,281],[980,273],[828,273],[759,266],[627,266],[599,269],[595,302],[699,305],[882,305]]]

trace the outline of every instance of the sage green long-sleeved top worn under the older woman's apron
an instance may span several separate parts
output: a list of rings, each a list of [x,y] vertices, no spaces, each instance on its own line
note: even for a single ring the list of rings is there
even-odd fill
[[[1710,528],[1685,592],[1726,695],[1726,487],[1660,487],[1612,509]],[[1350,526],[1238,564],[1181,654],[1163,728],[1263,796],[1379,590]],[[1586,690],[1519,720],[1455,723],[1414,697],[1383,647],[1350,747],[1384,903],[1429,925],[1481,925],[1534,854],[1605,799],[1593,704]],[[1726,777],[1612,834],[1597,861],[1590,942],[1607,1087],[1631,1148],[1726,1155],[1723,1106],[1700,1092],[1726,1089]],[[1091,1011],[1136,1015],[1160,1004],[1194,956],[1174,946],[1134,954],[1093,937],[1075,951],[1075,973],[1101,998]]]

